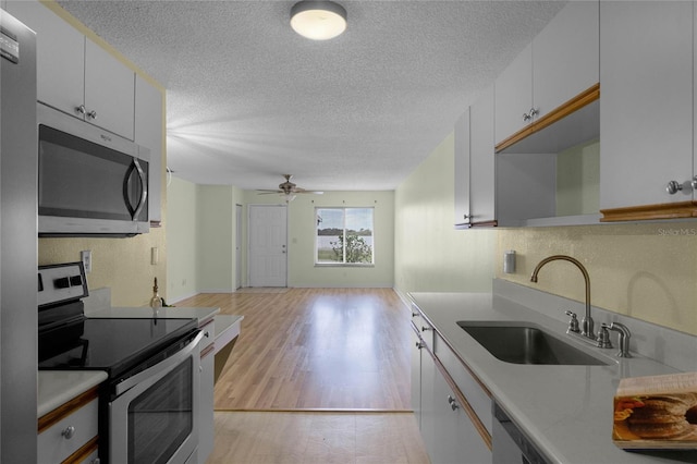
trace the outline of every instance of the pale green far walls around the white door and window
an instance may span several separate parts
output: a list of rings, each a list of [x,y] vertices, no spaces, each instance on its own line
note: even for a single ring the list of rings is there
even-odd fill
[[[235,291],[235,205],[244,206],[242,285],[247,284],[247,206],[279,204],[227,185],[196,185],[173,178],[168,187],[168,288],[173,303],[201,292]],[[281,204],[285,205],[281,200]],[[375,266],[315,267],[316,207],[375,208]],[[394,193],[326,192],[298,195],[289,205],[289,286],[392,288],[394,285]]]

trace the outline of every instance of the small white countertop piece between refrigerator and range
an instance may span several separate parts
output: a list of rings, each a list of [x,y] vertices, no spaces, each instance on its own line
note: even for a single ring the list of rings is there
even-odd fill
[[[37,418],[107,380],[102,370],[39,370]]]

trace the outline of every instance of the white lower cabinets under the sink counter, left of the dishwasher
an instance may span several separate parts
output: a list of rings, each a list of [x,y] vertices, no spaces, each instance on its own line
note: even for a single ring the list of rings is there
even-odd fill
[[[419,323],[413,328],[417,327]],[[412,402],[431,463],[491,463],[488,392],[457,364],[455,354],[432,329],[429,337],[418,337],[419,329],[413,338],[412,369],[418,368],[418,376],[412,371]]]

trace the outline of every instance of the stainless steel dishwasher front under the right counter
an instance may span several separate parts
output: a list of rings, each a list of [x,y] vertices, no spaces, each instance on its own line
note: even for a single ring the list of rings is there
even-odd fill
[[[493,402],[493,464],[550,464],[508,414]]]

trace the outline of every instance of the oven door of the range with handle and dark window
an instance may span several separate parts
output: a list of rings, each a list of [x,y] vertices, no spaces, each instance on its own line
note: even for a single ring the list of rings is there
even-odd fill
[[[109,403],[110,463],[196,462],[203,333],[115,386]]]

